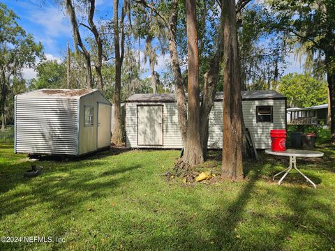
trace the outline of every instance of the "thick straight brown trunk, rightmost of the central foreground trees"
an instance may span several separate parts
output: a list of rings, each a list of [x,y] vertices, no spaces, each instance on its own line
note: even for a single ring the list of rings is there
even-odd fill
[[[223,178],[243,178],[242,102],[235,1],[223,0]]]

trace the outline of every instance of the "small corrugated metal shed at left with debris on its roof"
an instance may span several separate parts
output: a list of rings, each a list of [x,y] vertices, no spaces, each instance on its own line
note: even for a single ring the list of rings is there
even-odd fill
[[[110,146],[111,103],[98,90],[15,96],[15,153],[83,155]]]

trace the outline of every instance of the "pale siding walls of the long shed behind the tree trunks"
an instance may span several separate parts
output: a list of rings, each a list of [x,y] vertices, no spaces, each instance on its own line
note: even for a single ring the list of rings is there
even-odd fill
[[[163,146],[140,146],[162,149],[182,148],[178,126],[177,106],[174,102],[128,102],[126,103],[126,146],[137,148],[137,104],[163,105]],[[285,100],[244,100],[243,115],[246,127],[251,132],[255,147],[267,149],[271,145],[269,130],[285,128]],[[273,123],[257,123],[256,106],[273,105]],[[222,102],[214,102],[209,115],[209,149],[221,149],[223,138],[223,106]]]

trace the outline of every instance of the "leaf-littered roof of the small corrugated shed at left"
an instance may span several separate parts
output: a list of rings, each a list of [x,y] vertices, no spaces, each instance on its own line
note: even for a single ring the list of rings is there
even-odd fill
[[[29,91],[27,93],[22,93],[17,95],[19,98],[69,98],[77,99],[81,96],[87,95],[88,93],[93,93],[98,91],[96,89],[40,89],[36,91]]]

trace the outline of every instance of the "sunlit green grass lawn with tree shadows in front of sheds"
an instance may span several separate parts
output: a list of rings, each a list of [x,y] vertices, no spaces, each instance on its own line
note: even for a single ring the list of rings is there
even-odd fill
[[[322,159],[260,155],[244,181],[166,181],[179,151],[98,153],[40,161],[43,175],[23,178],[31,162],[0,144],[0,237],[52,236],[65,243],[0,243],[0,250],[334,250],[335,148]],[[218,153],[202,169],[219,172]],[[278,180],[277,180],[278,181]]]

